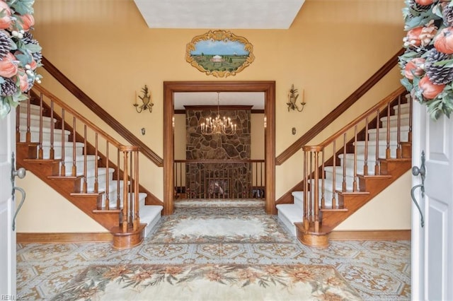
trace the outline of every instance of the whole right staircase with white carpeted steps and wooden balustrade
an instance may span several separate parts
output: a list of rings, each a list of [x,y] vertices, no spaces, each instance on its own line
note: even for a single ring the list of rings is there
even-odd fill
[[[411,168],[411,102],[399,88],[316,146],[303,146],[304,189],[278,217],[298,239],[327,247],[346,218]]]

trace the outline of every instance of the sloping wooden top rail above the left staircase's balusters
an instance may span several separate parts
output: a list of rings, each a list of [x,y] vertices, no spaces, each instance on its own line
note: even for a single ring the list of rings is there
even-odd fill
[[[88,119],[86,119],[86,117],[79,114],[79,112],[72,109],[65,102],[63,102],[62,100],[57,98],[57,96],[53,95],[47,89],[42,87],[42,85],[36,83],[35,85],[33,85],[33,90],[38,90],[43,95],[47,96],[47,98],[50,98],[50,100],[57,103],[60,107],[64,108],[64,110],[73,114],[75,117],[77,117],[77,119],[80,119],[85,124],[88,124],[88,126],[90,126],[91,129],[98,132],[98,134],[101,134],[101,136],[103,136],[103,138],[105,138],[105,140],[108,140],[110,142],[110,144],[112,144],[116,148],[120,149],[121,151],[139,151],[139,146],[125,146],[122,143],[120,143],[119,141],[117,141],[115,138],[110,136],[109,134],[105,133],[105,131],[103,131],[99,126],[96,126],[96,124],[93,124],[93,122],[89,121]]]

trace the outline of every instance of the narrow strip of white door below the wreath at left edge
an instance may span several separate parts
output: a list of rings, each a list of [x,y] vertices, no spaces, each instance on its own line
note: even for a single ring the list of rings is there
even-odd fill
[[[15,110],[0,119],[0,296],[16,296],[16,204],[11,197],[11,154],[16,151]],[[11,300],[11,299],[10,299]]]

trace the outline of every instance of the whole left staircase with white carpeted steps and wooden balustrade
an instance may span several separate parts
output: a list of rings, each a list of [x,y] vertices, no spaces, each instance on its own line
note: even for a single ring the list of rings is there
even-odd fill
[[[122,145],[40,85],[33,91],[38,98],[16,111],[18,167],[110,231],[116,249],[141,244],[163,206],[145,204],[138,146]]]

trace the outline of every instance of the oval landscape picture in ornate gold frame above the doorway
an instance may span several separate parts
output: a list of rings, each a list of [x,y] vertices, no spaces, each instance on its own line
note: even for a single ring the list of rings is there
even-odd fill
[[[234,76],[250,65],[253,45],[245,37],[225,30],[210,30],[188,43],[185,60],[206,75]]]

